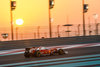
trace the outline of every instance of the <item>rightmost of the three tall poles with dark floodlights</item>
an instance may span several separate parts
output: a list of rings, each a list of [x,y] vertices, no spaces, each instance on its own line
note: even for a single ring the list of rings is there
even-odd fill
[[[84,4],[84,0],[82,0],[82,8],[83,8],[83,36],[86,36],[85,30],[85,13],[88,11],[88,4]]]

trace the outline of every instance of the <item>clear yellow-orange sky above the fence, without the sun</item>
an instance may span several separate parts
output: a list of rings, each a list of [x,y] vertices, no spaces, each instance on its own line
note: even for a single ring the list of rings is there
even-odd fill
[[[23,26],[48,26],[48,0],[16,0],[17,7],[13,11],[14,22],[16,19],[23,19]],[[10,26],[9,0],[0,0],[0,27]],[[51,10],[53,25],[64,25],[67,23],[82,23],[82,0],[55,0],[55,6]],[[89,11],[86,13],[94,23],[93,14],[100,15],[100,0],[85,0],[89,4]],[[100,22],[100,16],[98,17]],[[14,24],[15,25],[15,24]]]

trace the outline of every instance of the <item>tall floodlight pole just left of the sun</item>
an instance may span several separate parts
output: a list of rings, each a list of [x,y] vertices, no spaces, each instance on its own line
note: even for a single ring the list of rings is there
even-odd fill
[[[14,40],[14,34],[13,34],[13,15],[12,11],[16,8],[16,1],[10,0],[10,16],[11,16],[11,38]]]

